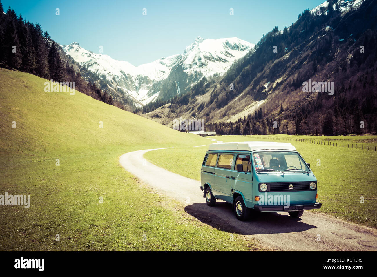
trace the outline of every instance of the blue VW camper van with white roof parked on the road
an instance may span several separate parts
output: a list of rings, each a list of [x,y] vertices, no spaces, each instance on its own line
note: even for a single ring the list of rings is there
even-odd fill
[[[319,209],[317,179],[296,148],[282,142],[210,144],[201,168],[203,197],[209,206],[233,204],[239,220],[255,212],[288,212],[301,217]]]

